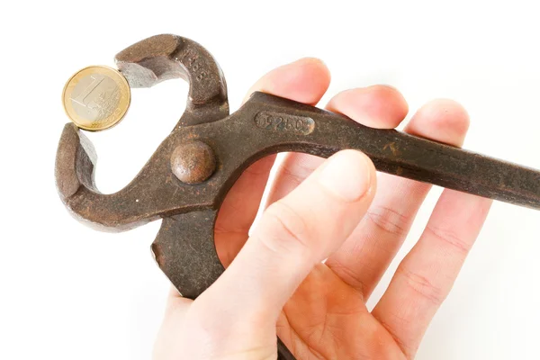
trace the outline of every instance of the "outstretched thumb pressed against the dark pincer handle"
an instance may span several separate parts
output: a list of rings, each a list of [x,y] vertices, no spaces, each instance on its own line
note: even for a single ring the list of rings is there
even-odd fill
[[[199,305],[208,305],[204,308],[222,321],[275,331],[279,312],[313,266],[336,251],[364,217],[374,197],[375,174],[371,160],[359,151],[329,157],[266,209]]]

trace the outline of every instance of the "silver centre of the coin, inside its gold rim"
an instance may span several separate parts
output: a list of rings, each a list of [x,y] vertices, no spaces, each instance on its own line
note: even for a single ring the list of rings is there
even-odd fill
[[[73,110],[87,121],[102,121],[117,109],[120,88],[111,77],[102,74],[85,76],[71,94]]]

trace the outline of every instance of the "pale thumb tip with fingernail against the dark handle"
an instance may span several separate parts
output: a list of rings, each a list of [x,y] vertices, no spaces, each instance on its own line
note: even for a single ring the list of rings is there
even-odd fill
[[[319,175],[319,183],[346,202],[359,200],[371,186],[370,160],[356,150],[329,157]]]

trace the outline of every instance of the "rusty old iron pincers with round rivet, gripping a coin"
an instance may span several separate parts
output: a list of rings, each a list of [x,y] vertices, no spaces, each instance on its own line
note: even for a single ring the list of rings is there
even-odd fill
[[[139,175],[112,194],[97,190],[94,148],[67,123],[58,144],[58,193],[78,220],[98,229],[126,230],[163,219],[152,251],[186,297],[197,297],[223,272],[213,227],[229,188],[247,166],[277,152],[329,157],[356,148],[388,174],[540,209],[540,172],[531,168],[368,128],[271,94],[255,93],[229,115],[220,67],[193,40],[157,35],[122,50],[116,62],[132,87],[187,80],[185,112]],[[294,358],[280,341],[278,348],[280,359]]]

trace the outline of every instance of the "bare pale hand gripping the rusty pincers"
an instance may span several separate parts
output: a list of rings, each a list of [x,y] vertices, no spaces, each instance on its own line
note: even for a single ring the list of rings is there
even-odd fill
[[[329,81],[319,59],[302,58],[263,76],[248,94],[258,90],[316,104]],[[326,107],[385,129],[398,126],[409,111],[403,96],[383,85],[346,90]],[[413,115],[405,131],[461,146],[468,127],[460,104],[435,100]],[[230,190],[215,230],[227,270],[194,302],[171,291],[154,359],[275,359],[276,335],[299,360],[413,358],[491,201],[445,190],[382,299],[368,311],[365,302],[430,185],[376,174],[356,150],[327,160],[287,154],[267,184],[274,163],[275,157],[258,161]],[[261,206],[265,211],[249,236]]]

